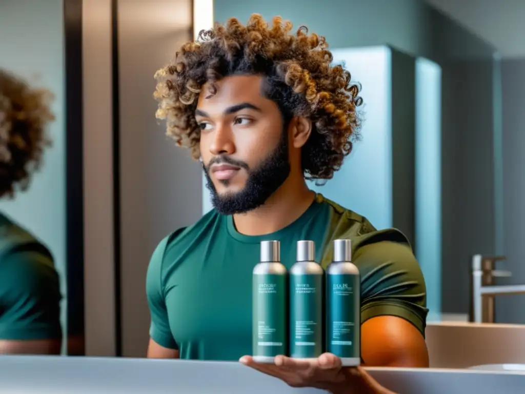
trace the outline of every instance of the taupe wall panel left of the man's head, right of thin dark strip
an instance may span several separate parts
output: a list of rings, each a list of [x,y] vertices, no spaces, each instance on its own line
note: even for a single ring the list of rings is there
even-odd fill
[[[146,269],[155,246],[202,214],[201,167],[155,119],[155,71],[191,37],[190,0],[118,2],[121,302],[124,356],[149,338]]]

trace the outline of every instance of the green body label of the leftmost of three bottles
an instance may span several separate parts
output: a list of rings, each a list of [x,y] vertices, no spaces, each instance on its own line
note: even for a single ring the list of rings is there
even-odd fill
[[[253,276],[253,356],[287,354],[286,275]]]

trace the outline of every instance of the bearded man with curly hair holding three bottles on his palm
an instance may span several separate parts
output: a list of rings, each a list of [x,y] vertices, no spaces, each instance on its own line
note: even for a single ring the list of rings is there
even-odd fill
[[[358,87],[324,38],[259,15],[230,19],[183,45],[158,71],[157,117],[200,159],[215,209],[167,236],[151,258],[148,357],[237,360],[291,386],[333,393],[383,392],[361,368],[251,352],[251,274],[261,240],[281,242],[290,267],[298,240],[317,245],[326,266],[331,241],[353,241],[362,282],[366,366],[428,366],[425,284],[406,237],[376,231],[363,216],[310,191],[330,179],[352,148],[360,119]],[[351,182],[351,180],[349,180]],[[366,191],[356,191],[366,193]]]

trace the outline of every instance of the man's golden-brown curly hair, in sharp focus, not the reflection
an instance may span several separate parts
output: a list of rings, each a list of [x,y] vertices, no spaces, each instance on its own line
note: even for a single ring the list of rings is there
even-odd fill
[[[303,116],[312,122],[301,151],[305,178],[330,179],[359,137],[360,85],[350,81],[350,72],[341,65],[332,65],[324,37],[308,34],[304,26],[290,34],[291,22],[278,16],[272,22],[270,27],[258,14],[251,15],[246,26],[230,18],[184,44],[174,61],[155,73],[156,118],[165,119],[167,136],[198,159],[201,130],[194,112],[202,86],[209,82],[213,95],[220,78],[262,75],[265,93],[285,121]]]

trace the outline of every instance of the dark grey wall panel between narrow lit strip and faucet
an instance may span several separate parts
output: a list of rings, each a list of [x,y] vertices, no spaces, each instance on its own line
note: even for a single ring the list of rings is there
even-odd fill
[[[433,11],[442,67],[442,308],[469,308],[470,256],[496,253],[494,49]]]

